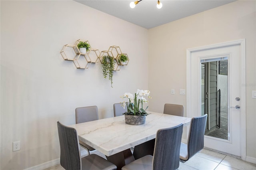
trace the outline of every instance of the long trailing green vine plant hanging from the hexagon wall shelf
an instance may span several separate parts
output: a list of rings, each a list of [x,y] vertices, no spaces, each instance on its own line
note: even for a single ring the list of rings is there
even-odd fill
[[[114,57],[111,57],[110,55],[104,55],[102,57],[102,72],[103,76],[106,79],[108,76],[108,79],[111,81],[111,87],[113,84],[112,78],[113,78],[113,71],[114,71]]]

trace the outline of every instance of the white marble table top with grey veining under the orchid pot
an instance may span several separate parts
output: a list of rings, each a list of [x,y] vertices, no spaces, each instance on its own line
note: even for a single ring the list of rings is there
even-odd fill
[[[106,156],[111,156],[148,140],[156,138],[160,128],[169,128],[183,123],[190,124],[191,118],[166,115],[148,111],[144,125],[128,125],[124,115],[70,125],[77,130],[78,138]]]

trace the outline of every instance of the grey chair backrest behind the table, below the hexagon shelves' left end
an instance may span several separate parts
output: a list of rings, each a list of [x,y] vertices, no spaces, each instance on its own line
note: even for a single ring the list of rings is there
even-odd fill
[[[99,119],[99,116],[98,116],[97,106],[76,108],[76,123],[96,121],[98,119]]]

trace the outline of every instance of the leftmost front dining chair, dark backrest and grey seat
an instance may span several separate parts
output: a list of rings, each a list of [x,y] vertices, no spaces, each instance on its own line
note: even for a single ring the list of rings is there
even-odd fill
[[[90,154],[81,158],[78,135],[75,128],[57,122],[60,141],[60,165],[66,170],[115,170],[116,166],[106,159]]]

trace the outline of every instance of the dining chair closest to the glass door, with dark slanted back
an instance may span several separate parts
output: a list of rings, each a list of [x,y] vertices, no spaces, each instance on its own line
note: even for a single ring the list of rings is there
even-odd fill
[[[180,145],[180,162],[186,162],[204,148],[206,120],[207,114],[191,119],[188,142]]]

